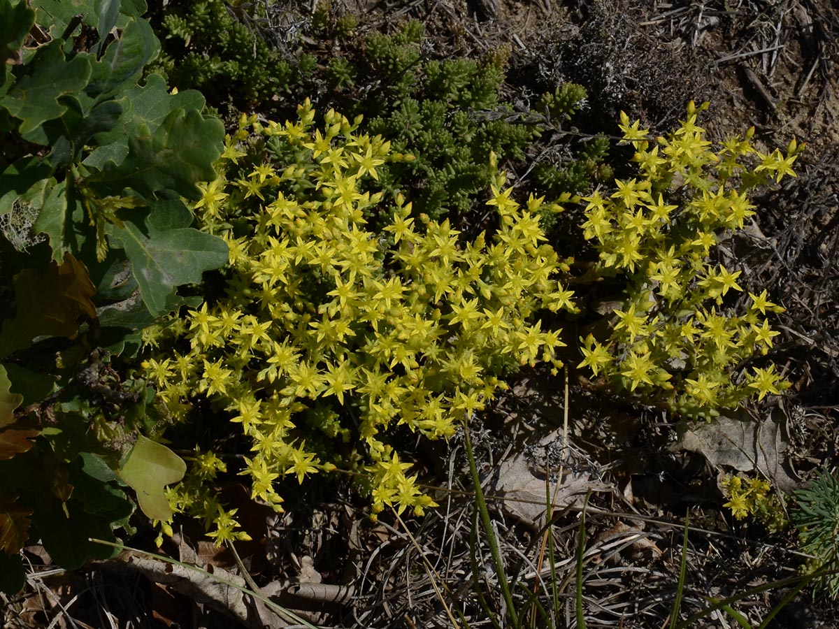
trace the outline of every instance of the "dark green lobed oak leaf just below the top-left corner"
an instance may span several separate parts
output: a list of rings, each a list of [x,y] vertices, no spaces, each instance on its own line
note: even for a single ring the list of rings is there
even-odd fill
[[[45,44],[24,66],[24,73],[0,99],[0,107],[21,120],[20,133],[29,133],[48,120],[64,115],[67,106],[60,97],[87,85],[91,64],[87,56],[64,58],[60,40]]]

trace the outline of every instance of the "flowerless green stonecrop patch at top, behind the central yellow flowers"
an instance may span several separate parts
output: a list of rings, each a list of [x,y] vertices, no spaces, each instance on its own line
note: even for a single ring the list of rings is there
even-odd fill
[[[502,97],[509,49],[480,60],[438,60],[423,47],[427,38],[420,22],[408,21],[393,34],[361,37],[353,33],[352,15],[336,17],[324,3],[310,26],[316,45],[301,42],[292,53],[292,46],[283,44],[289,51],[281,58],[266,41],[276,34],[270,24],[282,16],[264,10],[268,15],[259,18],[252,15],[257,5],[250,13],[232,11],[221,0],[176,5],[162,18],[166,51],[154,70],[172,85],[209,91],[211,102],[231,114],[239,108],[284,119],[293,114],[289,102],[315,94],[321,105],[348,117],[363,114],[367,133],[388,138],[395,151],[416,158],[393,164],[381,189],[409,193],[414,212],[435,220],[449,217],[459,224],[476,206],[481,211],[477,193],[487,190],[492,176],[487,155],[496,153],[502,163],[524,162],[540,134],[567,123],[586,99],[582,86],[567,84],[538,99],[533,112],[517,111]],[[294,37],[304,27],[297,24]],[[214,84],[241,86],[231,93],[245,98],[231,110],[227,94],[213,95]],[[607,181],[607,148],[605,138],[593,138],[573,159],[537,164],[534,192],[558,199]],[[546,230],[551,218],[543,216]]]

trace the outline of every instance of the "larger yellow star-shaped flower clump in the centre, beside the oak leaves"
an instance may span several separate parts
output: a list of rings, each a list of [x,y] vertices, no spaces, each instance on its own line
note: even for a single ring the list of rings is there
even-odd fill
[[[175,418],[215,408],[240,424],[253,498],[281,511],[275,481],[358,459],[374,512],[420,513],[435,503],[388,440],[399,426],[448,437],[503,374],[561,366],[559,332],[536,314],[574,309],[557,280],[568,266],[544,243],[544,201],[519,207],[503,174],[488,201],[497,231],[463,242],[448,221],[375,190],[379,170],[409,155],[356,133],[360,119],[330,111],[314,128],[309,101],[299,116],[242,117],[227,138],[195,204],[201,228],[229,246],[224,294],[172,320],[143,364]],[[369,212],[392,221],[367,231]],[[236,525],[209,489],[221,468],[208,457],[196,455],[174,502],[221,543]]]

